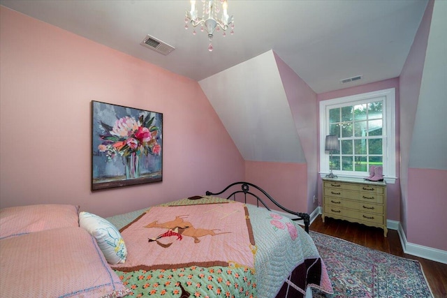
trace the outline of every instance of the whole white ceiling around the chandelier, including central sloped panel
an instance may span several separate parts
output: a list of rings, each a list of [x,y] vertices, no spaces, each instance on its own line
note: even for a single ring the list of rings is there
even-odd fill
[[[0,3],[198,81],[245,160],[298,163],[306,158],[273,52],[315,94],[398,77],[427,5],[228,0],[235,34],[215,34],[209,52],[205,33],[184,29],[186,0]],[[148,34],[175,50],[143,47]]]

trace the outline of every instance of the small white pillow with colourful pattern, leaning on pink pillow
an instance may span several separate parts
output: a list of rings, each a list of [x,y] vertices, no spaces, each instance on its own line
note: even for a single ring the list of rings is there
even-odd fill
[[[79,225],[96,239],[99,248],[109,264],[124,263],[127,257],[126,244],[121,234],[112,223],[95,214],[82,211]]]

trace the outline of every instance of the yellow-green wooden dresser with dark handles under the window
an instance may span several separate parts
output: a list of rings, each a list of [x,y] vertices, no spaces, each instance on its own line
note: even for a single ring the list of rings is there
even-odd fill
[[[382,228],[386,237],[386,183],[323,178],[323,215]]]

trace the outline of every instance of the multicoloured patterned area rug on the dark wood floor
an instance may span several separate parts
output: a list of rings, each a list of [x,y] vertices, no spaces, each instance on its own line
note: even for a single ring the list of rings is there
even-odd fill
[[[333,295],[315,298],[433,297],[420,262],[400,258],[318,232],[309,232],[325,263]]]

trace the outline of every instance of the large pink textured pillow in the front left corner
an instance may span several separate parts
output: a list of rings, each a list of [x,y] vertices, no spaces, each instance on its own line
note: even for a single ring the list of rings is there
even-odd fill
[[[0,297],[123,297],[129,293],[90,234],[66,227],[0,240]]]

